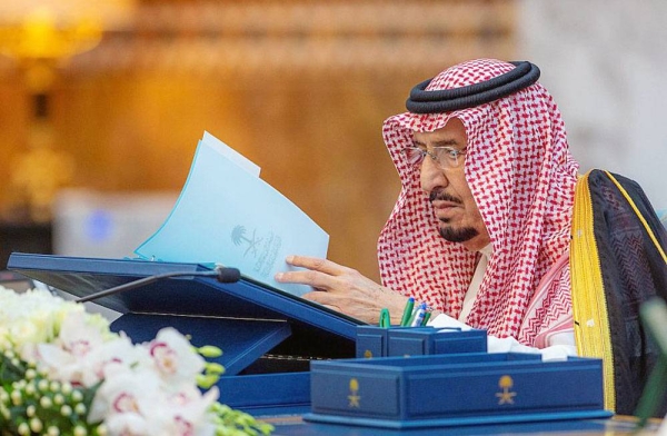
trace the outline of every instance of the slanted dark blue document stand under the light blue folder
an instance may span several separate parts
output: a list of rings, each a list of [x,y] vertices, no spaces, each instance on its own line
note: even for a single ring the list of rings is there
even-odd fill
[[[145,277],[210,270],[198,264],[102,259],[13,252],[8,269],[84,297]],[[310,404],[310,359],[355,356],[356,328],[364,323],[288,293],[241,277],[221,284],[211,277],[158,280],[94,303],[122,314],[111,324],[135,343],[162,327],[215,345],[226,367],[220,402],[242,409],[299,408]]]

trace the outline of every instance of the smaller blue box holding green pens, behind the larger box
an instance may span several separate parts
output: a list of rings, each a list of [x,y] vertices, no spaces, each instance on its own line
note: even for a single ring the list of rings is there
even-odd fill
[[[357,326],[357,357],[486,353],[486,330]]]

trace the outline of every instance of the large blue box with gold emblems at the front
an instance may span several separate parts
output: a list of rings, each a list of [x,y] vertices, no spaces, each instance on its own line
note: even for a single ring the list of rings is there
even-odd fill
[[[388,428],[611,416],[601,360],[467,353],[311,361],[307,420]]]

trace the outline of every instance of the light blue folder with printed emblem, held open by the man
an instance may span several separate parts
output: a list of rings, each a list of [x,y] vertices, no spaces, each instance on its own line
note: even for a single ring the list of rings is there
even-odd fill
[[[273,280],[291,269],[288,255],[326,257],[329,236],[259,178],[259,167],[209,133],[169,217],[136,250],[155,261],[221,264],[246,277],[301,296],[303,285]]]

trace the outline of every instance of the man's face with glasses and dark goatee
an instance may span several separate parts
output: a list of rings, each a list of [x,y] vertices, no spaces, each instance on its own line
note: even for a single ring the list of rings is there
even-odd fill
[[[439,146],[464,150],[468,145],[466,128],[457,118],[450,119],[441,129],[415,132],[414,140],[415,146],[429,151],[432,147]],[[464,155],[458,159],[464,159]],[[426,156],[421,162],[420,179],[421,188],[429,196],[436,218],[440,221],[439,231],[445,239],[460,242],[472,251],[490,242],[489,234],[466,181],[462,164],[456,168],[444,168]]]

